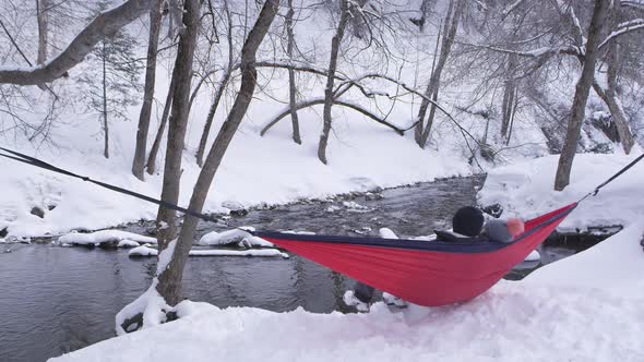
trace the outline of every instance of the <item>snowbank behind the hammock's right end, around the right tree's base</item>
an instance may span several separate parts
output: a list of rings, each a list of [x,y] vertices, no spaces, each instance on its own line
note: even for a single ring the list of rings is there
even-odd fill
[[[503,217],[529,219],[581,200],[601,182],[627,166],[641,153],[630,156],[579,154],[571,172],[571,183],[562,192],[553,191],[558,156],[516,162],[489,172],[478,194],[481,205],[499,203]],[[642,206],[644,161],[591,196],[561,224],[560,230],[587,226],[628,225],[644,218]]]

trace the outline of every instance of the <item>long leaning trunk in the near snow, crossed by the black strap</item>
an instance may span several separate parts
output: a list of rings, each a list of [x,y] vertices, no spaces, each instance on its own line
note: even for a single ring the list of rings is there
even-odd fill
[[[275,19],[275,14],[279,9],[279,0],[266,0],[260,12],[258,21],[250,31],[243,48],[241,49],[241,86],[235,104],[228,113],[228,118],[222,125],[215,143],[205,159],[203,168],[199,173],[194,191],[190,198],[189,208],[200,212],[207,196],[207,192],[212,184],[213,178],[224,158],[224,154],[232,140],[254,93],[257,84],[257,70],[254,67],[255,53],[262,43],[264,36],[271,27],[271,23]],[[194,216],[186,215],[179,240],[175,249],[175,253],[168,268],[164,272],[164,279],[159,279],[159,287],[164,293],[162,295],[170,305],[175,305],[181,301],[181,277],[183,267],[188,260],[188,253],[192,246],[192,239],[199,219]]]

